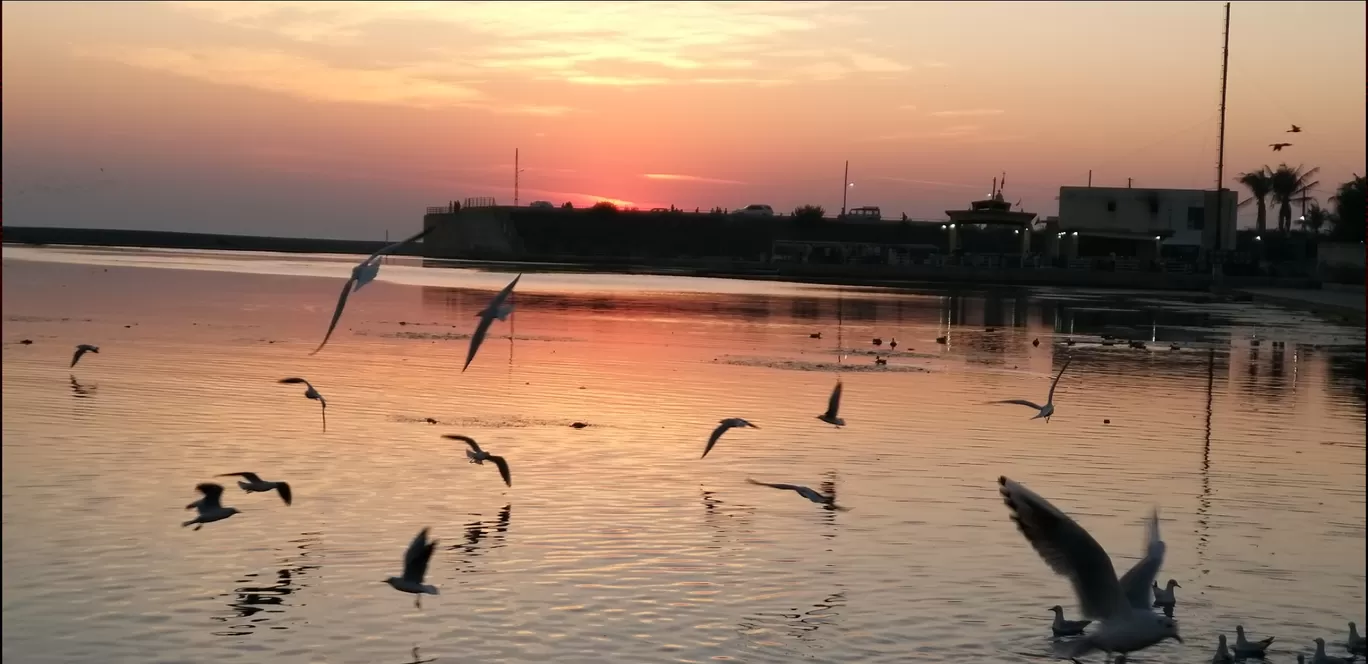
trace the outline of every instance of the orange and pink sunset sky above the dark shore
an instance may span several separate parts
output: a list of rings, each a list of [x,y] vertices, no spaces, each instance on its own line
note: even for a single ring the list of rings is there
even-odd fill
[[[380,238],[468,196],[940,219],[1213,188],[1220,3],[4,3],[4,223]],[[1365,167],[1365,3],[1234,3],[1226,170]],[[1291,125],[1301,134],[1286,134]],[[1293,142],[1272,153],[1268,144]],[[1252,211],[1244,214],[1252,219]]]

